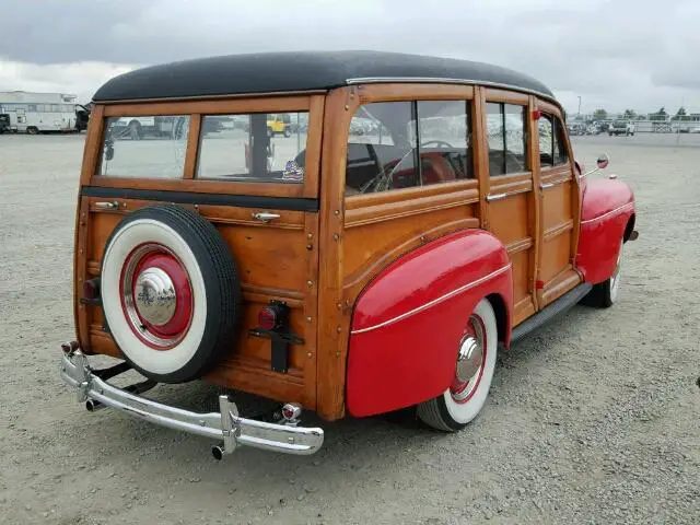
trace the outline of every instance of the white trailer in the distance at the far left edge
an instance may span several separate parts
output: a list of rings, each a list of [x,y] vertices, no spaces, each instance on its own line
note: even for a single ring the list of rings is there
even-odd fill
[[[0,92],[0,115],[9,117],[14,132],[74,131],[75,100],[66,93]]]

